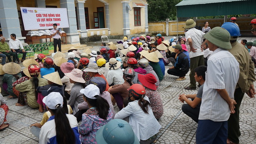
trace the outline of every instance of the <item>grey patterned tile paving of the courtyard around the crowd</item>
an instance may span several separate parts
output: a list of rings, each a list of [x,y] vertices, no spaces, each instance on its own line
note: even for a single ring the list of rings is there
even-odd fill
[[[170,37],[166,38],[168,39]],[[240,41],[241,39],[247,39],[249,41],[256,40],[254,37],[241,37]],[[95,45],[99,43],[97,42]],[[87,45],[95,46],[92,42]],[[98,47],[94,47],[93,49],[98,50]],[[169,67],[166,66],[166,71]],[[177,77],[170,76],[166,73],[158,87],[158,92],[160,92],[163,101],[164,114],[159,120],[162,129],[159,132],[156,144],[195,144],[196,142],[197,123],[181,111],[183,103],[178,100],[178,96],[182,93],[195,94],[197,92],[197,90],[183,89],[189,85],[188,74],[186,75],[186,80],[176,81]],[[37,144],[38,138],[30,133],[30,125],[40,122],[43,113],[40,113],[38,109],[32,109],[28,106],[15,106],[18,99],[7,99],[6,97],[4,96],[9,106],[7,122],[10,126],[3,132],[0,132],[0,144]],[[250,99],[245,94],[240,107],[241,144],[255,144],[255,105],[255,100]],[[116,105],[115,111],[117,112]]]

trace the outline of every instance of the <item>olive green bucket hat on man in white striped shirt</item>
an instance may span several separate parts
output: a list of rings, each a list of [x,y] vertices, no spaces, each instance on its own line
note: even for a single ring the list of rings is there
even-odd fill
[[[210,41],[212,44],[223,49],[231,49],[230,44],[230,33],[219,26],[211,29],[208,33],[203,36],[205,39]]]

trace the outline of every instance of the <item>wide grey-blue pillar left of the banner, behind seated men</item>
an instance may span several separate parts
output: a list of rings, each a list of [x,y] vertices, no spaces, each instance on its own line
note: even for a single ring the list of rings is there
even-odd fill
[[[26,37],[21,35],[16,0],[0,0],[0,14],[2,32],[6,40],[11,40],[11,33],[15,33],[16,38],[24,43]]]

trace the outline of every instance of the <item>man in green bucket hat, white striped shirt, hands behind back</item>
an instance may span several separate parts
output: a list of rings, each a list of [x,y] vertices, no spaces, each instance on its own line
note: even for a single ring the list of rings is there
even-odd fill
[[[239,78],[239,63],[228,52],[230,33],[215,27],[204,35],[212,52],[207,61],[196,144],[226,144],[227,120],[235,113],[234,90]]]

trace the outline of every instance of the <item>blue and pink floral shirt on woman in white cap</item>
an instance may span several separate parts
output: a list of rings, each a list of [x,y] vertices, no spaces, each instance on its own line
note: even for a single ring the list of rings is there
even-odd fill
[[[82,116],[82,123],[79,126],[80,139],[82,144],[97,144],[96,133],[103,125],[112,120],[112,111],[109,108],[107,119],[102,119],[98,115],[96,107],[87,110]]]

